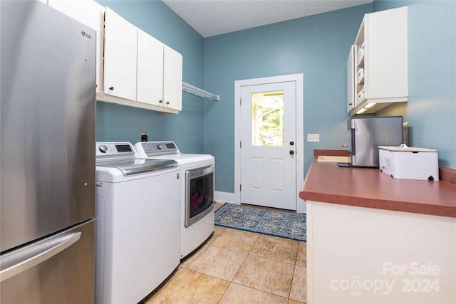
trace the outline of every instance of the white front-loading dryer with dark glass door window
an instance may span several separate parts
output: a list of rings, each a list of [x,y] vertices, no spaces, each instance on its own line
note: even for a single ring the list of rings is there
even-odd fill
[[[182,154],[174,142],[137,142],[139,157],[172,159],[182,172],[180,258],[185,258],[214,232],[214,157]]]

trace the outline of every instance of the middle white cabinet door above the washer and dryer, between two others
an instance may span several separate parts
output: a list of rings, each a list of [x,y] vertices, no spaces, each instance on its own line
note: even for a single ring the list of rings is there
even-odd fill
[[[162,105],[163,43],[138,29],[136,101]]]

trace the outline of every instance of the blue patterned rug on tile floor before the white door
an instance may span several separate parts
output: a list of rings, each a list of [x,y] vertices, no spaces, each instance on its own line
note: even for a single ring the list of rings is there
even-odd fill
[[[215,211],[215,224],[306,241],[306,214],[225,203]]]

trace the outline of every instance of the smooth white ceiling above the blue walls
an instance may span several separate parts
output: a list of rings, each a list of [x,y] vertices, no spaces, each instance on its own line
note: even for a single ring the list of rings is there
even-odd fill
[[[373,0],[163,0],[201,36],[336,11]]]

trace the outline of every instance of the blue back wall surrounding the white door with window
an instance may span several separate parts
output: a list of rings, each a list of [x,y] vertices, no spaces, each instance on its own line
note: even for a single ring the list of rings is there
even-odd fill
[[[346,140],[346,61],[372,4],[206,38],[204,87],[221,100],[204,115],[204,152],[216,159],[216,189],[234,192],[234,81],[304,73],[304,172],[314,149]],[[298,100],[303,102],[303,100]],[[223,135],[223,136],[221,136]]]

